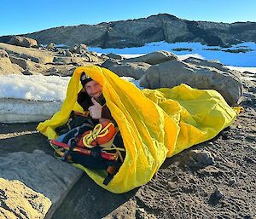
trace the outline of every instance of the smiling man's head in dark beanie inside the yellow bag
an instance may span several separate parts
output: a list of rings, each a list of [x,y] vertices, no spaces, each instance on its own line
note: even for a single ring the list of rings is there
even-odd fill
[[[84,72],[81,75],[81,83],[84,91],[86,91],[90,97],[97,99],[100,95],[102,95],[102,86],[92,78],[88,77]]]

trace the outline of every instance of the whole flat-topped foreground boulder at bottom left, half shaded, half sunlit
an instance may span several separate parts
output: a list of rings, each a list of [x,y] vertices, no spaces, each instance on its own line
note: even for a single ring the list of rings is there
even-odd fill
[[[36,216],[41,211],[50,218],[82,174],[82,170],[38,149],[33,153],[15,152],[0,157],[0,176],[14,186],[0,183],[0,192],[8,192],[2,195],[9,198],[5,203],[10,208],[4,208],[4,213],[15,213],[15,218],[44,218]]]

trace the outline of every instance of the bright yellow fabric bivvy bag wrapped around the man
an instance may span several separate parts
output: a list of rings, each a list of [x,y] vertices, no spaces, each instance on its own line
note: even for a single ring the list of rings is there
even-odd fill
[[[108,69],[83,66],[74,71],[61,110],[38,124],[38,130],[49,139],[56,138],[55,127],[65,124],[73,109],[82,112],[77,103],[82,72],[102,85],[107,106],[123,136],[126,157],[108,186],[102,184],[106,171],[76,166],[113,193],[125,193],[150,181],[166,157],[211,139],[229,126],[239,112],[215,90],[192,89],[186,84],[141,90]]]

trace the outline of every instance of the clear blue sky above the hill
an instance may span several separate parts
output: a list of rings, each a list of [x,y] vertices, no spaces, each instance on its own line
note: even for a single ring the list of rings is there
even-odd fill
[[[1,0],[0,36],[167,13],[186,20],[256,21],[256,0]]]

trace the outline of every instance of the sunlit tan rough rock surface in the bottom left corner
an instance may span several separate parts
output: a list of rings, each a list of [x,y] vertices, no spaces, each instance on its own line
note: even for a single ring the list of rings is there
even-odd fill
[[[0,178],[1,218],[44,218],[51,201],[20,181]]]

